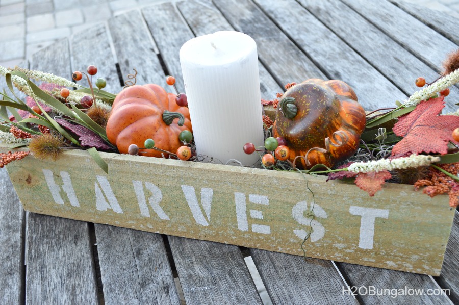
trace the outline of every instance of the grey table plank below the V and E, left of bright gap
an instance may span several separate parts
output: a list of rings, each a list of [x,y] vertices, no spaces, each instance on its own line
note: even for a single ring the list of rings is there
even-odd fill
[[[187,304],[262,304],[237,246],[168,238]]]

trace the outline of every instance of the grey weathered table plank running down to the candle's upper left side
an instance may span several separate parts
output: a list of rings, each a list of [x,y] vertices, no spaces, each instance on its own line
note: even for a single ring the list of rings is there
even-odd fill
[[[184,92],[179,51],[185,42],[194,37],[193,32],[171,3],[146,7],[142,13],[169,74],[177,80],[175,86],[179,92]]]

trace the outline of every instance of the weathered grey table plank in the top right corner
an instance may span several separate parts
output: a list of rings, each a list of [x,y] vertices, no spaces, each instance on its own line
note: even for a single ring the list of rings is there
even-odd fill
[[[390,0],[390,2],[459,45],[459,31],[457,31],[459,29],[459,19],[456,17],[410,2],[394,0]]]

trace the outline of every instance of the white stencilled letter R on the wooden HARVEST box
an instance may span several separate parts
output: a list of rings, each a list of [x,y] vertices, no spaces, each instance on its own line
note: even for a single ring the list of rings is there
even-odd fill
[[[134,191],[136,192],[137,202],[139,203],[140,213],[144,217],[150,217],[150,212],[146,204],[145,193],[143,191],[142,181],[133,180],[132,184],[134,185]],[[160,207],[159,203],[163,200],[163,193],[156,185],[144,182],[147,190],[151,192],[151,196],[148,197],[148,202],[150,203],[151,208],[162,220],[170,220],[166,215],[164,210]]]

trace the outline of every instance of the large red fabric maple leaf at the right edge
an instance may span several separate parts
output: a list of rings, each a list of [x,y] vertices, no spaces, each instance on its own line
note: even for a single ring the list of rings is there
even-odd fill
[[[392,155],[448,153],[452,132],[459,127],[459,116],[439,115],[445,107],[444,97],[422,101],[415,110],[401,116],[392,129],[403,139],[392,148]]]

